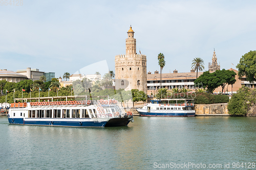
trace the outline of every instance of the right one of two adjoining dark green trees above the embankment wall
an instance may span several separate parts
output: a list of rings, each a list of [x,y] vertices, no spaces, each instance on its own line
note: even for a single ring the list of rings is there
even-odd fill
[[[235,78],[237,74],[233,70],[216,70],[215,75],[216,78],[219,79],[219,86],[222,87],[221,93],[223,93],[223,90],[227,84],[234,84],[237,81]]]

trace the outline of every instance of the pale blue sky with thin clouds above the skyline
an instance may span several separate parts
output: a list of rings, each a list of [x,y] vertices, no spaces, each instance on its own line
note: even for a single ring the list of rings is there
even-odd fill
[[[115,70],[115,55],[125,54],[130,25],[137,53],[147,56],[151,72],[159,70],[159,53],[165,56],[166,73],[190,71],[196,57],[208,69],[214,48],[221,69],[235,68],[242,55],[256,50],[256,1],[2,3],[0,69],[38,68],[55,72],[58,78],[106,60],[109,69]],[[86,74],[101,70],[93,68]]]

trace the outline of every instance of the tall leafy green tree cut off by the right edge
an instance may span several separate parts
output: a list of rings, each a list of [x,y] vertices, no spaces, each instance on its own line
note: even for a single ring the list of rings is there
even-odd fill
[[[245,76],[250,83],[256,81],[256,51],[243,55],[236,67],[240,78]]]

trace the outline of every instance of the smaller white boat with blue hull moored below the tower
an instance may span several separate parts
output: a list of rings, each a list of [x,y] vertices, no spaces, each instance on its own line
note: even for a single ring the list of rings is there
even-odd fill
[[[137,109],[140,116],[195,116],[194,99],[160,99],[151,100],[144,107]]]

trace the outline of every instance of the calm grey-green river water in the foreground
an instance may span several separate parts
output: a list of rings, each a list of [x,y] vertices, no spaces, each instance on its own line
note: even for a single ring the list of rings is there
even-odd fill
[[[0,116],[0,169],[162,169],[171,162],[206,165],[173,169],[228,169],[228,162],[234,169],[233,162],[256,162],[256,117],[134,120],[127,127],[68,128],[9,125]]]

